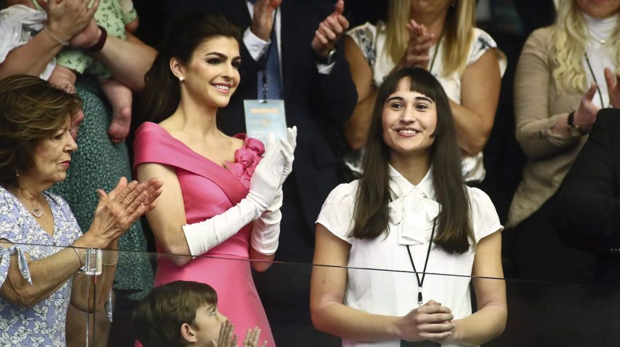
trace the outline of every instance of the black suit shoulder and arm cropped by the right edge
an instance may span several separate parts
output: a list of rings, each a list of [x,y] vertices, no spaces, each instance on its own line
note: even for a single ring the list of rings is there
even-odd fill
[[[620,247],[617,172],[620,149],[610,133],[620,131],[620,111],[603,109],[555,201],[555,227],[571,245],[595,253]]]

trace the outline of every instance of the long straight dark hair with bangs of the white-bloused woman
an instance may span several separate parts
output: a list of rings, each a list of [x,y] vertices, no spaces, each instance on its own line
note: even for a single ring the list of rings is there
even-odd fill
[[[383,139],[384,103],[397,89],[402,78],[409,79],[409,90],[431,98],[437,105],[435,142],[430,148],[433,164],[433,186],[441,205],[437,216],[436,245],[448,253],[463,254],[469,242],[475,243],[469,217],[469,199],[461,172],[461,155],[448,96],[440,82],[428,71],[406,68],[396,71],[381,85],[362,159],[364,175],[360,179],[355,201],[355,221],[351,235],[355,238],[377,238],[389,232],[389,156],[390,148]]]

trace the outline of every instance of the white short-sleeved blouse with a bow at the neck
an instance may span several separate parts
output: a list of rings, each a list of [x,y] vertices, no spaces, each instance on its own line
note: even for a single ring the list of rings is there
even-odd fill
[[[407,247],[411,249],[415,268],[422,278],[433,219],[441,208],[435,201],[432,172],[431,168],[415,186],[390,166],[389,232],[373,240],[350,236],[359,181],[341,184],[327,197],[316,223],[351,245],[344,295],[347,306],[378,315],[405,315],[417,308],[418,285]],[[476,242],[501,231],[504,227],[499,224],[488,196],[477,188],[466,189]],[[471,248],[464,254],[448,254],[432,247],[422,286],[424,302],[431,299],[442,302],[452,310],[455,319],[471,315],[469,276],[474,256]],[[400,341],[342,339],[342,346],[399,347]]]

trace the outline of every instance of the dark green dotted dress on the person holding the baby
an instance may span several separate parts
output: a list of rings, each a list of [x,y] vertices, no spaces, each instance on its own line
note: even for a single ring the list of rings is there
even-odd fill
[[[125,143],[112,144],[107,137],[105,129],[110,126],[112,117],[109,106],[102,101],[99,84],[83,76],[76,83],[76,90],[85,114],[77,139],[78,150],[72,155],[67,179],[50,191],[66,199],[82,230],[88,230],[99,202],[96,190],[101,188],[109,192],[121,177],[131,179],[132,172]],[[121,236],[118,249],[121,252],[114,289],[135,291],[130,298],[141,299],[152,288],[153,270],[147,254],[143,253],[147,244],[140,221]]]

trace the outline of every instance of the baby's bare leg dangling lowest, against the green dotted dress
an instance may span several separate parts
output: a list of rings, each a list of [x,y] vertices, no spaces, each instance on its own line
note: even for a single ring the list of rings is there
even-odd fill
[[[132,123],[132,91],[115,78],[99,80],[101,89],[112,104],[112,124],[107,129],[110,141],[123,142],[129,135]]]

